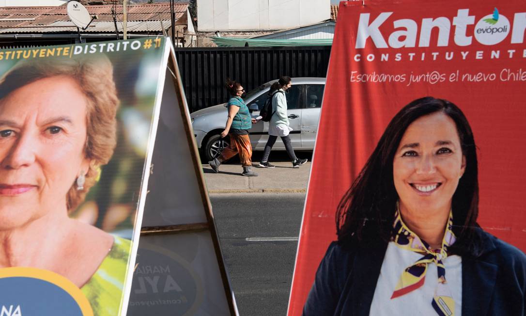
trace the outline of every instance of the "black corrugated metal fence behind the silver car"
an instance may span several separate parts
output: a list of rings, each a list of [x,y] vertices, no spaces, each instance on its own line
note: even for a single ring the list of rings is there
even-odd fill
[[[278,79],[325,77],[331,46],[177,48],[190,112],[228,101],[226,78],[246,91]]]

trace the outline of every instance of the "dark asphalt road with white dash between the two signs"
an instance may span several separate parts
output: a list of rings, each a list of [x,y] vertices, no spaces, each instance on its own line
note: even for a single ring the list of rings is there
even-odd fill
[[[239,314],[286,315],[305,194],[212,194],[210,200]],[[261,238],[286,240],[255,241]]]

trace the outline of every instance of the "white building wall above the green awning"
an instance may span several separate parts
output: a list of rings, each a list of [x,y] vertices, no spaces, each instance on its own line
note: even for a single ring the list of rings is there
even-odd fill
[[[330,18],[330,0],[197,0],[198,31],[284,29]]]

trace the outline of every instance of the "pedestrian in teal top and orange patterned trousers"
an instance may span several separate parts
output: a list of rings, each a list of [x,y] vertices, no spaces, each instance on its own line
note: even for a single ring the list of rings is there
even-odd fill
[[[225,130],[221,132],[221,137],[230,136],[230,145],[225,148],[218,158],[214,158],[208,162],[214,172],[219,172],[219,165],[231,157],[239,154],[241,165],[243,166],[242,175],[258,176],[252,171],[252,145],[248,137],[248,130],[252,128],[252,123],[256,123],[256,119],[250,116],[245,101],[241,95],[245,89],[239,82],[227,79],[226,88],[230,94],[228,100],[228,118]]]

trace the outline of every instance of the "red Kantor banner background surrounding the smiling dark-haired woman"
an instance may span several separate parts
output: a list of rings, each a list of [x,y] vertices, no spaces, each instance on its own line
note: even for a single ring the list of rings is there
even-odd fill
[[[526,2],[341,2],[288,315],[336,236],[338,203],[391,118],[423,96],[458,105],[478,146],[478,223],[526,250]]]

